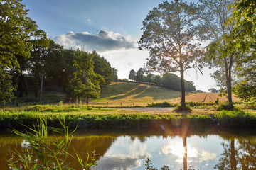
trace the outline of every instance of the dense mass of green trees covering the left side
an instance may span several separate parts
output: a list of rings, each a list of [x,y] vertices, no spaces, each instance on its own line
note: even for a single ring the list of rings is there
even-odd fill
[[[117,69],[96,51],[65,49],[47,38],[27,16],[21,0],[0,3],[0,106],[28,97],[26,77],[33,77],[35,98],[41,102],[43,83],[52,79],[68,96],[100,96],[100,87],[116,81]]]

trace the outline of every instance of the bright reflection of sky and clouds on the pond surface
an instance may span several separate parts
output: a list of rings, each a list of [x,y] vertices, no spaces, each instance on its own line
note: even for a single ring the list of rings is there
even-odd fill
[[[217,135],[188,137],[188,167],[213,169],[223,152],[222,141]],[[183,155],[182,137],[152,136],[142,142],[138,138],[131,140],[129,136],[122,136],[117,137],[105,156],[98,161],[97,169],[144,169],[147,157],[157,169],[163,165],[171,169],[183,169]]]

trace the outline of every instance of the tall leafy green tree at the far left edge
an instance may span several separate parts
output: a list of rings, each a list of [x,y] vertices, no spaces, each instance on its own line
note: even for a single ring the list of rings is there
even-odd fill
[[[31,40],[46,37],[46,33],[38,30],[36,22],[27,17],[28,10],[21,4],[21,0],[1,1],[0,9],[0,66],[1,77],[3,76],[3,81],[0,83],[4,84],[7,79],[10,79],[7,75],[10,69],[19,72],[20,63],[17,56],[29,57],[33,45]],[[14,86],[9,84],[8,89],[0,89],[0,93],[3,94],[2,103],[14,98],[12,91],[2,90],[14,91]]]

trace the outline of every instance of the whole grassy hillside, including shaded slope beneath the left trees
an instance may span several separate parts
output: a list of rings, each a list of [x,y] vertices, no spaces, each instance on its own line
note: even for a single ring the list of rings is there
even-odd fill
[[[21,105],[33,105],[37,103],[33,98],[33,91],[29,91],[28,98],[31,102],[25,102],[26,98],[17,98],[18,103]],[[188,93],[186,92],[186,101],[193,101],[199,103],[215,103],[219,98],[220,102],[228,101],[225,96],[218,96],[214,93]],[[59,103],[65,99],[65,103],[73,103],[65,98],[65,94],[60,89],[45,89],[43,91],[43,103]],[[85,101],[85,100],[83,100]],[[160,103],[167,101],[169,103],[181,102],[181,91],[173,91],[164,87],[139,84],[133,82],[118,82],[112,83],[102,89],[100,98],[91,98],[90,106],[146,106],[151,103]],[[238,101],[238,98],[233,98],[233,101]]]

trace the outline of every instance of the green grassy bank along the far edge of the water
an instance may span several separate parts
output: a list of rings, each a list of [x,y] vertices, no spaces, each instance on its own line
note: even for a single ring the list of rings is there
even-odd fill
[[[31,106],[26,109],[0,111],[0,128],[23,128],[37,125],[45,118],[48,126],[60,127],[65,118],[70,128],[140,128],[162,126],[179,127],[184,122],[190,126],[256,127],[256,113],[245,111],[141,111],[124,108],[61,108],[60,106]]]

